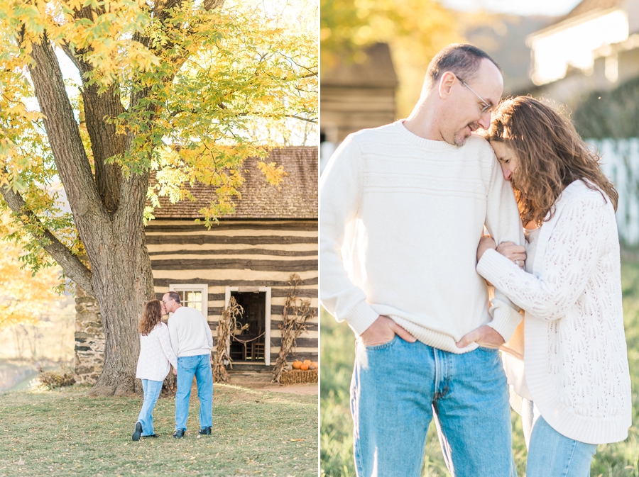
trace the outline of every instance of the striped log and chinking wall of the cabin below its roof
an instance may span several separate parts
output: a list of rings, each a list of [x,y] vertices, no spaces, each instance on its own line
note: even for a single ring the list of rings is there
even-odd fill
[[[207,230],[192,220],[153,220],[146,228],[158,299],[172,285],[206,284],[207,320],[217,343],[217,325],[227,287],[239,291],[271,288],[271,364],[277,359],[279,325],[290,274],[304,284],[297,293],[309,299],[315,318],[297,339],[296,357],[318,357],[317,221],[220,220]]]

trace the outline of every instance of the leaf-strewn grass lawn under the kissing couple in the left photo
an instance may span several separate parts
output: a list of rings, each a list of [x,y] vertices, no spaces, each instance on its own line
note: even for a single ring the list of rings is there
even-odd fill
[[[216,384],[213,434],[173,439],[175,400],[158,400],[158,439],[131,441],[141,398],[89,398],[88,388],[0,395],[0,476],[317,476],[317,396]]]

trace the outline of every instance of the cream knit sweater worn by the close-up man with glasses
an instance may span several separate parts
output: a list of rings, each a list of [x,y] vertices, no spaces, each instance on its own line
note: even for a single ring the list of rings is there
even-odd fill
[[[490,322],[505,339],[521,315],[503,296],[488,313],[475,270],[484,225],[523,244],[510,184],[486,140],[420,138],[397,121],[349,135],[320,181],[320,298],[361,335],[388,315],[432,347]]]

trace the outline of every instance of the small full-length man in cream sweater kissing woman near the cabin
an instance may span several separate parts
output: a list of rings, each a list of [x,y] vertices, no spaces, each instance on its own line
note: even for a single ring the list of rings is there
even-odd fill
[[[195,308],[182,306],[180,295],[169,291],[162,297],[163,308],[173,313],[168,320],[171,347],[178,357],[178,392],[175,393],[175,432],[181,439],[189,417],[189,398],[193,376],[200,399],[200,434],[211,434],[213,426],[213,374],[211,349],[213,337],[207,320]],[[206,301],[204,301],[206,303]]]

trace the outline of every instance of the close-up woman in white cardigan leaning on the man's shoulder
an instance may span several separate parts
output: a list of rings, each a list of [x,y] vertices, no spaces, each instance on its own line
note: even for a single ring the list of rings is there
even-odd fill
[[[503,347],[528,444],[526,475],[589,476],[596,444],[628,436],[632,398],[615,221],[618,194],[574,127],[535,99],[503,101],[486,139],[515,191],[525,268],[489,237],[477,271],[525,310]]]

